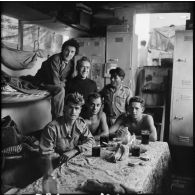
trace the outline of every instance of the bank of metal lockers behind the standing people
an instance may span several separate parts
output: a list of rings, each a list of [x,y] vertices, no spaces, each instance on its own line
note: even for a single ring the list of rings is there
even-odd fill
[[[79,42],[80,48],[79,55],[75,57],[75,60],[81,56],[90,58],[92,64],[90,78],[97,83],[99,90],[105,84],[110,83],[107,64],[113,63],[125,71],[124,84],[134,91],[137,68],[135,60],[137,59],[137,36],[132,36],[128,25],[108,26],[106,37],[80,37],[76,40]],[[133,45],[134,50],[132,50]]]

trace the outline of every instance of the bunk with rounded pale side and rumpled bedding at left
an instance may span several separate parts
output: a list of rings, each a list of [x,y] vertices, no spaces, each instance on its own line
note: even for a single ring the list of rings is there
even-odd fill
[[[27,86],[16,77],[11,77],[11,82],[5,80],[4,77],[4,85],[1,84],[2,118],[9,115],[24,135],[42,129],[51,121],[51,95],[48,91],[33,88],[29,83]]]

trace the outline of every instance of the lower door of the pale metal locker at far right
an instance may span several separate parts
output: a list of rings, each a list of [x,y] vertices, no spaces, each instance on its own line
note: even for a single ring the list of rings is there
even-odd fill
[[[170,142],[173,145],[193,146],[193,91],[173,90]]]

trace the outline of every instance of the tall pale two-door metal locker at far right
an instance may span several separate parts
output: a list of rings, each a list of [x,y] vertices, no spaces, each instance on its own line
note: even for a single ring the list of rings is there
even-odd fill
[[[175,36],[169,142],[193,146],[193,32]]]

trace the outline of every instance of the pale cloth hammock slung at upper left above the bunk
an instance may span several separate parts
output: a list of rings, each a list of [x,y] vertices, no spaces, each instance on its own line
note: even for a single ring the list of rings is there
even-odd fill
[[[1,63],[12,70],[30,69],[35,65],[38,57],[46,56],[47,54],[40,49],[37,51],[21,51],[1,44]]]

